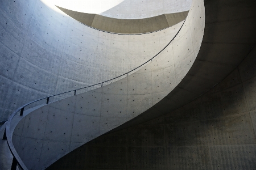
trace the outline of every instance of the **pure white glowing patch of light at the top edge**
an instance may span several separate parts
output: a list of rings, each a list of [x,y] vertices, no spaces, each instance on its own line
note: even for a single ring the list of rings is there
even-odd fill
[[[44,0],[53,5],[67,8],[69,10],[100,14],[104,11],[117,6],[124,0]]]

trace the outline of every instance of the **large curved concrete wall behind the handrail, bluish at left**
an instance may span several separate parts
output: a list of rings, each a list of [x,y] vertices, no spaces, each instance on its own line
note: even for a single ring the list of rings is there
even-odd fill
[[[32,100],[138,67],[163,49],[181,25],[145,35],[115,35],[82,25],[40,0],[1,0],[0,15],[0,121]]]

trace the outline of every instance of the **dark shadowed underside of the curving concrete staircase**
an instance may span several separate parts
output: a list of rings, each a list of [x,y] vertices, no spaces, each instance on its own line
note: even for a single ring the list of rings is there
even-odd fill
[[[193,6],[196,5],[192,2]],[[187,75],[163,100],[114,130],[129,128],[170,113],[204,94],[228,76],[256,44],[255,8],[256,2],[251,0],[205,1],[203,42],[200,50],[197,49],[199,53]],[[189,12],[196,13],[198,10]],[[200,31],[198,25],[191,25]],[[193,36],[199,35],[195,33]]]

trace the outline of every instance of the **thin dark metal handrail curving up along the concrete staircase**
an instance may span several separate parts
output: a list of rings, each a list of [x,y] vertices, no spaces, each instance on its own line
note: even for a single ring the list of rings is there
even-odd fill
[[[187,18],[186,18],[187,19]],[[185,20],[186,20],[185,19]],[[183,24],[181,25],[180,29],[183,27],[184,23],[185,23],[185,20],[183,22]],[[156,56],[158,56],[158,54],[160,54],[161,52],[163,52],[164,49],[167,48],[168,45],[171,44],[171,42],[175,39],[175,37],[177,36],[177,34],[180,32],[180,29],[179,31],[177,31],[176,35],[172,38],[172,40],[170,42],[168,42],[168,44],[166,46],[164,46],[164,48],[162,50],[160,50],[159,53],[157,53],[154,57],[152,57],[151,59],[148,59],[148,61],[144,62],[142,65],[136,67],[135,69],[133,70],[130,70],[128,71],[127,73],[125,74],[122,74],[122,75],[119,75],[113,79],[109,79],[109,80],[106,80],[104,82],[101,82],[101,83],[97,83],[97,84],[93,84],[91,86],[87,86],[87,87],[82,87],[82,88],[78,88],[76,90],[71,90],[71,91],[67,91],[67,92],[63,92],[61,94],[57,94],[57,95],[63,95],[63,94],[67,94],[68,92],[74,92],[74,95],[76,95],[76,91],[78,90],[81,90],[81,89],[84,89],[84,88],[88,88],[88,87],[93,87],[93,86],[97,86],[97,85],[100,85],[101,84],[101,87],[103,86],[103,83],[106,83],[106,82],[109,82],[111,80],[114,80],[114,79],[117,79],[123,75],[126,75],[127,76],[129,75],[129,73],[131,73],[132,71],[138,69],[139,67],[145,65],[146,63],[148,62],[152,62],[152,59],[154,59]],[[20,116],[23,116],[23,112],[24,112],[24,108],[27,106],[27,105],[30,105],[32,103],[35,103],[36,101],[40,101],[40,100],[44,100],[44,99],[47,99],[46,101],[46,104],[49,103],[49,98],[50,97],[54,97],[54,96],[57,96],[57,95],[52,95],[52,96],[48,96],[48,97],[43,97],[42,99],[38,99],[38,100],[35,100],[35,101],[31,101],[30,103],[27,103],[27,104],[24,104],[22,105],[22,107],[19,107],[18,109],[16,109],[16,111],[13,112],[13,114],[11,114],[11,116],[9,117],[8,121],[6,122],[6,128],[5,128],[5,134],[3,136],[3,139],[7,139],[7,143],[8,143],[8,146],[10,148],[10,151],[11,151],[11,154],[14,156],[13,158],[13,164],[11,166],[11,170],[15,169],[16,170],[16,165],[18,164],[19,167],[22,169],[22,170],[28,170],[26,165],[23,163],[22,159],[20,159],[18,153],[16,152],[15,148],[14,148],[14,145],[13,145],[13,141],[11,140],[11,133],[10,133],[10,124],[11,124],[11,120],[13,120],[13,117],[15,116],[16,113],[18,113],[20,111]]]

